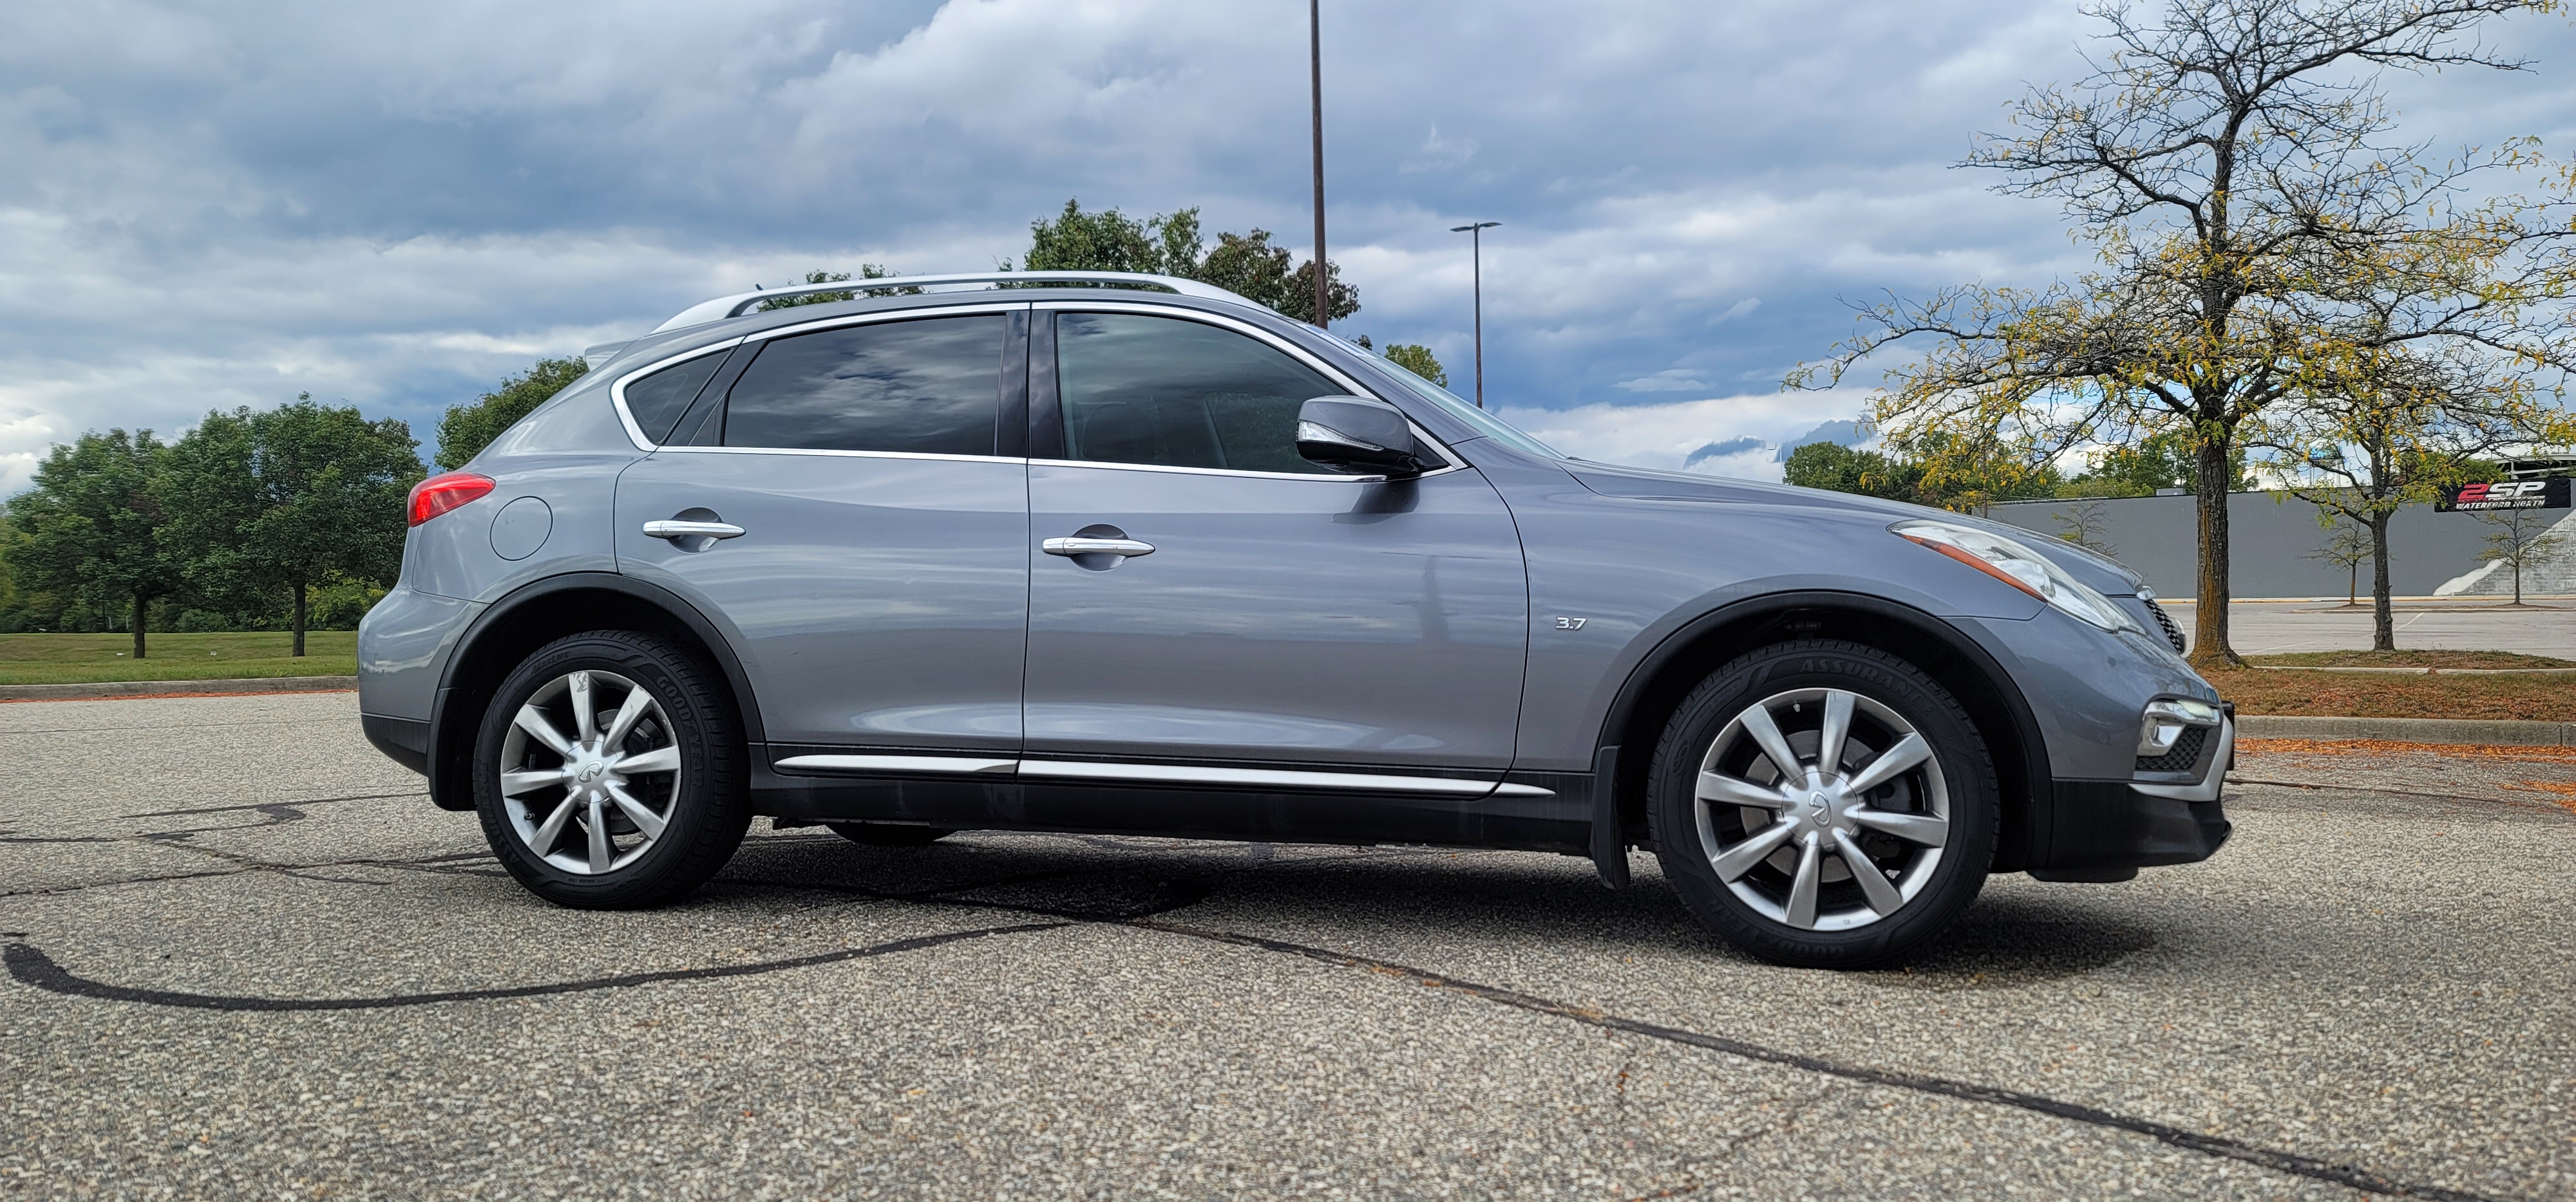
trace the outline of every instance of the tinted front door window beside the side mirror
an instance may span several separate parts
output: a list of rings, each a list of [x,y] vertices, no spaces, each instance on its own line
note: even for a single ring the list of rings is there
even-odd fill
[[[1069,458],[1334,474],[1296,453],[1296,409],[1345,389],[1231,329],[1056,314],[1056,391]]]

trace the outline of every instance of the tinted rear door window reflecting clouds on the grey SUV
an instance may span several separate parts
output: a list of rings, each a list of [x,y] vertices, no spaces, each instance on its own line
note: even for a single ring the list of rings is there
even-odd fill
[[[724,445],[989,456],[1002,314],[773,337],[724,402]]]

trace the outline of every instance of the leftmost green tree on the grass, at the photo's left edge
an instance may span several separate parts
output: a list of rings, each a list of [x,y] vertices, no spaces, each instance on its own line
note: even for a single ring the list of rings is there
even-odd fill
[[[131,602],[134,659],[155,597],[180,584],[167,541],[162,474],[170,448],[152,430],[85,432],[36,466],[36,486],[8,502],[18,587],[95,602]]]

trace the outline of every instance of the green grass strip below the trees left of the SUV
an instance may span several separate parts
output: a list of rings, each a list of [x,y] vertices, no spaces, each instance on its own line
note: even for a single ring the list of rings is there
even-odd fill
[[[0,685],[80,685],[93,680],[353,677],[358,631],[307,631],[304,659],[291,633],[155,633],[149,659],[129,633],[0,636]]]

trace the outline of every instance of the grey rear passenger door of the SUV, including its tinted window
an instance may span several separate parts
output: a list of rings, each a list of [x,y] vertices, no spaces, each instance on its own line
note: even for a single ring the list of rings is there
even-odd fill
[[[773,754],[1018,752],[1025,327],[1015,304],[770,332],[618,479],[621,571],[726,628]]]

